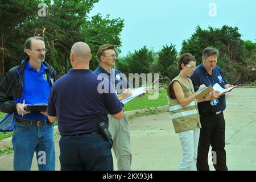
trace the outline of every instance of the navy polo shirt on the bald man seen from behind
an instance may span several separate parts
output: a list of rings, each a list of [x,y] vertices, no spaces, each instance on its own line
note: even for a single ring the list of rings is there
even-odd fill
[[[76,135],[97,131],[97,123],[108,124],[108,114],[119,113],[123,107],[115,93],[100,93],[98,86],[109,84],[97,80],[90,69],[70,69],[52,86],[47,111],[57,116],[61,135]]]

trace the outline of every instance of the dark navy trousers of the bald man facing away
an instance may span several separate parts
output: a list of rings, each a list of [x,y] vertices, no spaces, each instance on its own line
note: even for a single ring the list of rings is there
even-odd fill
[[[61,171],[113,171],[112,140],[101,134],[60,138]]]

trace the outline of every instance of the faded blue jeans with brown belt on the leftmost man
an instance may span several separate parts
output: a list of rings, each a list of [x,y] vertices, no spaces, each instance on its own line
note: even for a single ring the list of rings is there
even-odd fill
[[[34,152],[39,171],[55,170],[53,125],[30,126],[16,122],[12,142],[15,171],[29,171]]]

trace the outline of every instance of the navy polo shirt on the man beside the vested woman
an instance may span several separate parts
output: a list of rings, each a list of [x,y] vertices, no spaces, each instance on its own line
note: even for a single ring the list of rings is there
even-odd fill
[[[195,72],[191,76],[191,80],[193,82],[195,92],[198,90],[198,87],[202,84],[205,84],[205,86],[213,86],[214,84],[218,83],[222,88],[225,88],[225,85],[228,84],[228,81],[226,80],[224,73],[222,72],[221,68],[218,67],[218,65],[214,67],[212,75],[209,75],[207,70],[203,67],[202,63],[196,67]],[[217,99],[219,103],[216,106],[210,105],[210,101],[200,102],[198,104],[199,111],[224,111],[226,109],[225,94]]]

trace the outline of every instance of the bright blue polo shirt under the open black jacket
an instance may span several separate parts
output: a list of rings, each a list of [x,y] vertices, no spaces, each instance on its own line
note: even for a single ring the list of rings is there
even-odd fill
[[[49,81],[47,78],[47,67],[41,63],[41,69],[36,71],[32,68],[29,61],[24,67],[24,85],[23,85],[23,100],[25,104],[46,104],[48,101],[48,96],[51,90]],[[41,121],[47,119],[46,115],[40,112],[31,112],[28,114],[19,115],[15,113],[17,118],[29,119],[34,121]]]

